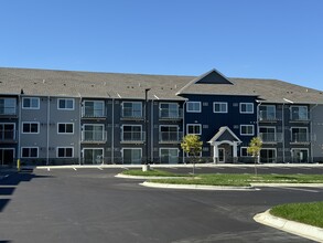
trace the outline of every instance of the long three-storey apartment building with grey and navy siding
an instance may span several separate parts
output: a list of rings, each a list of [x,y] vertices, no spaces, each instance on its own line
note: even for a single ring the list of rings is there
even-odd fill
[[[276,80],[0,68],[0,165],[323,161],[323,94]]]

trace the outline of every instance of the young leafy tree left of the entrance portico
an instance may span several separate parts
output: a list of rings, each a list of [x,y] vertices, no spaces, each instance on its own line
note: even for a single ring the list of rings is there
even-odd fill
[[[195,162],[197,160],[197,155],[202,151],[202,146],[203,141],[200,140],[197,135],[186,135],[181,142],[184,152],[193,156],[193,175],[195,175]]]

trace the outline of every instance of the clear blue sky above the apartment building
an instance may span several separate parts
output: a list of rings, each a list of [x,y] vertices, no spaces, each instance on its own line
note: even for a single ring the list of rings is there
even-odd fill
[[[322,0],[10,0],[0,66],[277,78],[323,89]]]

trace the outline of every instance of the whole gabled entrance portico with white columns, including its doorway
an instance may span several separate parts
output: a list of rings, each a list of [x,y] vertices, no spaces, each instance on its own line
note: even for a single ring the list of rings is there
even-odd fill
[[[220,127],[208,141],[213,146],[213,162],[236,162],[241,140],[228,127]]]

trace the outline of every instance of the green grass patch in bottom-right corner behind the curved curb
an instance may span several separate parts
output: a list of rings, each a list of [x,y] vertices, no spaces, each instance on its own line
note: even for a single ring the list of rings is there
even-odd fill
[[[270,210],[272,215],[323,228],[323,202],[281,204]]]

